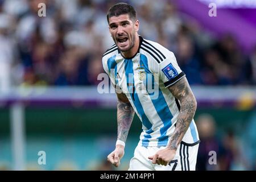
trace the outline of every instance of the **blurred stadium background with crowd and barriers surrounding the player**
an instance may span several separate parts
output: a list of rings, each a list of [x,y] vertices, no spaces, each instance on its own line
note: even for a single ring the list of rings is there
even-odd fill
[[[41,2],[46,17],[38,16]],[[97,92],[101,55],[113,44],[106,12],[115,2],[0,0],[0,170],[128,168],[141,122],[135,116],[113,168],[106,156],[115,144],[116,98]],[[137,9],[140,35],[175,53],[196,95],[197,169],[255,170],[256,1],[123,2]],[[217,165],[209,165],[209,151]]]

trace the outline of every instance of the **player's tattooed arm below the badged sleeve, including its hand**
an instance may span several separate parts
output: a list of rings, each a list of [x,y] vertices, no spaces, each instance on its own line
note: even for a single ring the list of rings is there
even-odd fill
[[[154,156],[149,156],[153,164],[167,164],[174,159],[177,147],[184,137],[196,112],[196,98],[188,84],[187,78],[183,77],[174,85],[168,87],[172,95],[180,101],[180,112],[177,116],[176,128],[172,134],[167,148],[159,150]]]

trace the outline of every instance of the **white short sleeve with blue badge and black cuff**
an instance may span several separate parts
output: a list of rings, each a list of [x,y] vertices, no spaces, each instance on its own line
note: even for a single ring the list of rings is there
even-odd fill
[[[181,71],[177,64],[176,57],[172,52],[168,54],[166,59],[159,63],[158,67],[159,78],[164,82],[165,87],[175,84],[185,76],[185,73]]]

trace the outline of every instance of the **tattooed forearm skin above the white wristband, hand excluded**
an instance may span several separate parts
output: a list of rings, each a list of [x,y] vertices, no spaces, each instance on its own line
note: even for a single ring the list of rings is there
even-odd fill
[[[117,103],[117,139],[126,142],[131,122],[133,122],[134,109],[130,102],[123,102],[120,98],[119,96]]]

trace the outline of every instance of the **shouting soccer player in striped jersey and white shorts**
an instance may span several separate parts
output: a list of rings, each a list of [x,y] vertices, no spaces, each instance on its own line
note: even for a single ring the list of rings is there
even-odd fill
[[[139,36],[132,6],[115,4],[107,19],[115,44],[102,63],[118,98],[117,142],[109,162],[119,166],[136,113],[143,131],[129,170],[195,170],[200,142],[193,121],[197,103],[174,53]]]

